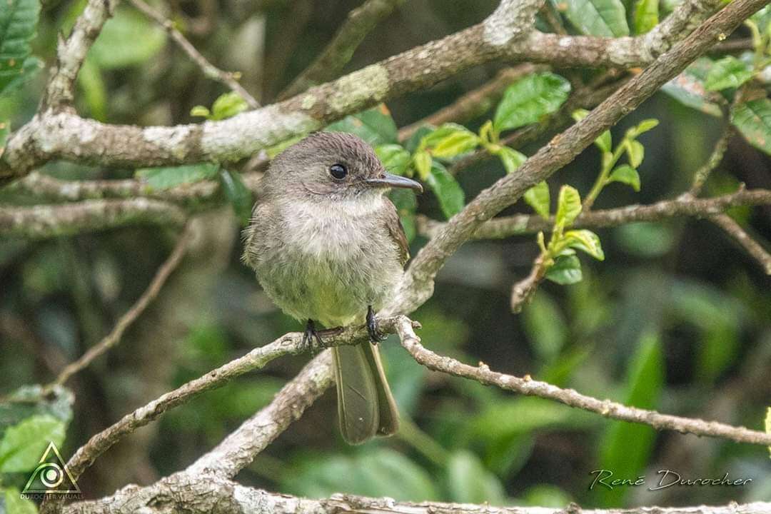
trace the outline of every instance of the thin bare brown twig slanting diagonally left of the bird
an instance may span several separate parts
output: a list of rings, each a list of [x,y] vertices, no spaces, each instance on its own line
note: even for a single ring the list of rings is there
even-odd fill
[[[139,300],[137,300],[128,311],[126,311],[126,314],[123,314],[123,316],[120,317],[118,322],[115,324],[115,327],[113,327],[113,330],[110,331],[110,333],[107,334],[102,341],[99,341],[98,344],[95,344],[93,347],[89,348],[89,350],[86,351],[85,354],[82,354],[82,356],[77,361],[67,365],[59,373],[59,376],[55,381],[45,386],[46,391],[51,390],[56,385],[64,385],[64,383],[68,381],[72,375],[75,375],[83,368],[86,368],[94,361],[94,359],[98,358],[100,355],[113,348],[116,344],[120,343],[120,338],[123,337],[123,332],[125,332],[126,329],[129,328],[134,321],[136,321],[136,318],[142,315],[147,306],[150,305],[153,300],[155,300],[155,298],[160,293],[161,288],[163,288],[163,284],[166,284],[167,279],[180,265],[180,262],[182,262],[182,257],[184,257],[185,253],[187,252],[187,247],[190,245],[190,241],[193,240],[193,235],[193,231],[188,224],[186,229],[183,230],[183,232],[180,234],[180,237],[177,239],[177,244],[174,245],[171,254],[158,268],[155,277],[153,277],[153,280],[150,281],[150,285],[147,286],[147,289],[143,292],[142,296],[139,297]]]

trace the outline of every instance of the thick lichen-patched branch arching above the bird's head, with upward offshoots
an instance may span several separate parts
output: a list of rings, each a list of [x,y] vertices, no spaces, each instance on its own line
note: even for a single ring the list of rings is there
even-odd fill
[[[89,2],[89,6],[94,4],[99,1]],[[604,39],[534,32],[534,15],[541,4],[541,0],[503,0],[479,25],[315,86],[284,102],[222,121],[140,128],[98,123],[71,112],[44,110],[8,139],[0,159],[0,185],[53,159],[106,166],[171,166],[240,160],[291,136],[318,129],[385,99],[433,86],[464,69],[494,59],[554,62],[564,66],[639,66],[651,62],[651,56],[656,53],[643,52],[648,47],[637,38]],[[672,21],[663,23],[682,29],[685,25],[675,21],[699,19],[713,8],[712,2],[703,0],[681,2],[670,15]],[[92,16],[94,20],[88,27],[89,34],[96,37],[93,32],[98,31],[100,22],[106,19],[106,9],[95,8],[94,12],[99,16]],[[683,12],[692,15],[683,17]],[[673,40],[685,35],[672,29],[659,29],[659,32]],[[73,44],[77,52],[65,52],[69,48],[66,46],[60,48],[60,53],[69,59],[70,54],[85,52],[90,39],[78,41],[79,45]],[[62,81],[56,78],[54,82]],[[59,89],[62,88],[49,87],[49,91]]]

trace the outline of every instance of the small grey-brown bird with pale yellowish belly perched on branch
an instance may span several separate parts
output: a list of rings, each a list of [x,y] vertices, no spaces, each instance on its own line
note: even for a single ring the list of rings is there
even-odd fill
[[[372,147],[348,133],[314,133],[276,156],[244,231],[244,263],[284,313],[325,328],[366,322],[370,342],[332,348],[340,431],[361,444],[399,428],[375,344],[375,311],[392,297],[409,259],[391,187],[423,191],[385,172]]]

